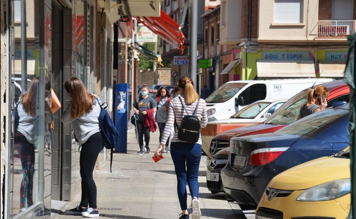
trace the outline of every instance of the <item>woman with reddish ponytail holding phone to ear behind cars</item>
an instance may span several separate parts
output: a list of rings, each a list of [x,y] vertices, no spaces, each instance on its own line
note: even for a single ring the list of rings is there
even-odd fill
[[[317,86],[308,91],[307,103],[300,108],[298,119],[324,110],[328,105],[329,90],[325,86]]]

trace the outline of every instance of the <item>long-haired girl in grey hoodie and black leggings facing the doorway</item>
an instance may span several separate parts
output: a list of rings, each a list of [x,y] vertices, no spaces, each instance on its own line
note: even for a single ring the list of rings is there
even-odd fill
[[[82,199],[79,206],[66,210],[66,213],[83,217],[99,217],[96,206],[96,185],[93,171],[96,159],[103,149],[103,137],[99,128],[100,99],[85,88],[77,77],[64,82],[64,88],[71,97],[67,109],[63,112],[63,123],[72,123],[75,140],[82,144],[80,150],[80,177],[82,178]]]

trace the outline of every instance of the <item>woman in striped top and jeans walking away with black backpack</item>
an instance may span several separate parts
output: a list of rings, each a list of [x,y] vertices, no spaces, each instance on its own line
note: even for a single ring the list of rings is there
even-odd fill
[[[194,90],[193,81],[189,77],[182,77],[178,82],[180,97],[169,103],[168,121],[164,127],[161,144],[155,157],[161,156],[167,142],[174,121],[179,126],[171,142],[171,155],[177,175],[177,190],[182,214],[179,219],[189,219],[187,210],[187,182],[192,194],[192,218],[201,217],[198,200],[199,184],[198,172],[201,158],[201,137],[199,129],[208,123],[206,104]],[[192,128],[190,128],[192,127]],[[194,128],[193,128],[194,127]],[[187,169],[185,169],[187,166]]]

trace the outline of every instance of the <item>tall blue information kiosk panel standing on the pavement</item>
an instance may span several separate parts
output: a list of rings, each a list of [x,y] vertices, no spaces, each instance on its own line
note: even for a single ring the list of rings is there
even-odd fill
[[[115,105],[114,105],[114,120],[117,131],[120,133],[120,144],[116,148],[115,153],[127,153],[127,84],[116,84],[115,86]]]

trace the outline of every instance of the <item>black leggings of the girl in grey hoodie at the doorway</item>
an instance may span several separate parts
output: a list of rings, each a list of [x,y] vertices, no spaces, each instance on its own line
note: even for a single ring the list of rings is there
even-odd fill
[[[80,151],[80,177],[82,178],[82,200],[80,206],[96,209],[96,185],[93,171],[96,159],[103,149],[103,137],[100,132],[94,133],[82,144]]]

